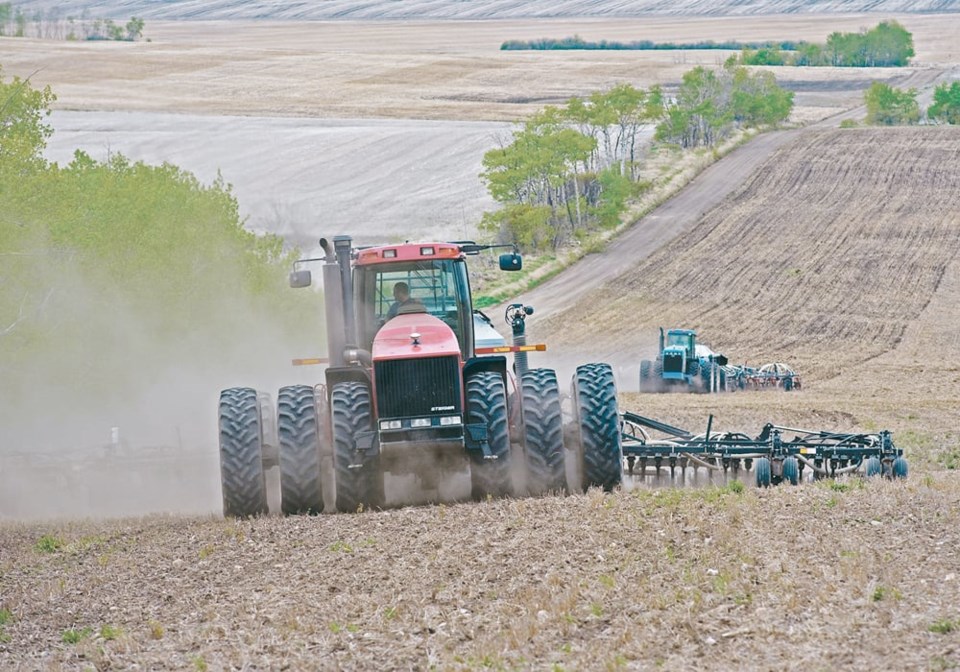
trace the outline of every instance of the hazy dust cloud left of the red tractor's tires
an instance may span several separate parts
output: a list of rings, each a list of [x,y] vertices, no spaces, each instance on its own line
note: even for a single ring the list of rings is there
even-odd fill
[[[0,349],[0,520],[219,512],[220,390],[317,382],[290,360],[323,355],[322,334],[242,296],[170,333],[184,316],[59,274],[34,350]]]

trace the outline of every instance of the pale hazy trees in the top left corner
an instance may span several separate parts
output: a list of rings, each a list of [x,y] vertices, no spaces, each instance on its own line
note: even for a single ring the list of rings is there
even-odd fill
[[[144,26],[144,20],[135,16],[121,25],[112,19],[92,19],[86,13],[63,16],[56,7],[25,11],[11,2],[0,2],[0,37],[134,42],[143,37]]]

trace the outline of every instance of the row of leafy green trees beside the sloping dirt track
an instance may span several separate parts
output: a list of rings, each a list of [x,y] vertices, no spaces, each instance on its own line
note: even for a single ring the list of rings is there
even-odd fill
[[[774,125],[793,94],[769,72],[695,68],[674,97],[629,84],[549,106],[483,158],[501,207],[480,229],[527,251],[556,250],[616,227],[641,181],[644,131],[681,148],[711,147],[736,128]]]

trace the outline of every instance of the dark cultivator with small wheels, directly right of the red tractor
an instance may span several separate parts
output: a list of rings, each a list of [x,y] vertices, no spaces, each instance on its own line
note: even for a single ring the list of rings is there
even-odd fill
[[[814,480],[853,473],[906,478],[908,472],[903,451],[894,445],[889,431],[851,434],[767,424],[759,435],[750,437],[739,432],[712,433],[712,415],[703,434],[636,413],[621,413],[620,420],[626,473],[639,478],[669,475],[671,480],[679,476],[686,482],[688,475],[696,479],[701,470],[707,470],[711,480],[715,474],[742,479],[743,472],[752,471],[757,486],[767,487],[784,482],[796,485],[808,472]]]

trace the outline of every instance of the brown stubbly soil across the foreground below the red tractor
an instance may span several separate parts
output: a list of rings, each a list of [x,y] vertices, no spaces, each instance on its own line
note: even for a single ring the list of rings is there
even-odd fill
[[[958,511],[951,474],[8,525],[0,666],[948,669]]]

